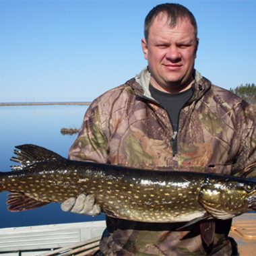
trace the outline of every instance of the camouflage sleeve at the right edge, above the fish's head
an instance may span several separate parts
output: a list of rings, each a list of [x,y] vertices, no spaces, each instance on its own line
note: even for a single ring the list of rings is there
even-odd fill
[[[241,125],[243,129],[243,140],[241,149],[234,164],[233,174],[238,177],[256,177],[256,123],[255,113],[251,105],[243,101],[245,106],[243,112],[239,113],[243,119]]]

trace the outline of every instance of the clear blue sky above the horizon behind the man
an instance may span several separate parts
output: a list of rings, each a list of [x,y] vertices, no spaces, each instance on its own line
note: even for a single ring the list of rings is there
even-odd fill
[[[147,65],[156,0],[0,0],[0,102],[81,102]],[[256,83],[256,1],[181,0],[199,27],[195,68],[230,89]]]

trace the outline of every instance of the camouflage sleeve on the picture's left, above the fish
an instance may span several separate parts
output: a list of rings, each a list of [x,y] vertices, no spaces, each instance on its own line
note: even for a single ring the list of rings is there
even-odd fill
[[[107,139],[102,132],[98,99],[86,111],[77,139],[69,150],[69,159],[108,163]]]

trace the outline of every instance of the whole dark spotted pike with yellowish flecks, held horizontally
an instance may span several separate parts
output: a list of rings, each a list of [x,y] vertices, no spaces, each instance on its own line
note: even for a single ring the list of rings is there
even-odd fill
[[[16,147],[20,162],[0,172],[12,212],[93,194],[102,212],[140,222],[228,219],[256,210],[256,180],[198,172],[152,171],[67,160],[34,145]]]

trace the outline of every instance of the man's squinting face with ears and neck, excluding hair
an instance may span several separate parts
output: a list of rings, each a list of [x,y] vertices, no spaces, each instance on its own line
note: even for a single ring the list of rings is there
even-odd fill
[[[158,15],[150,26],[148,40],[142,40],[152,86],[163,92],[174,93],[190,88],[198,40],[189,20],[179,20],[171,28],[167,16]]]

